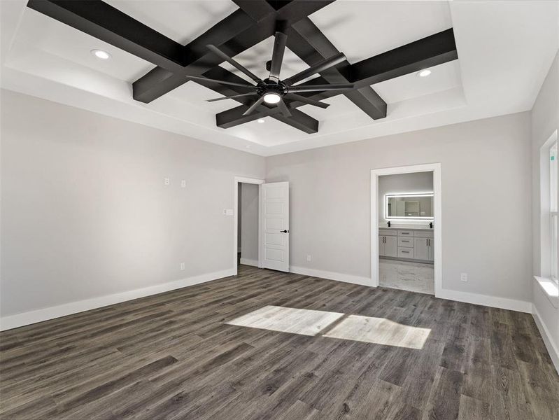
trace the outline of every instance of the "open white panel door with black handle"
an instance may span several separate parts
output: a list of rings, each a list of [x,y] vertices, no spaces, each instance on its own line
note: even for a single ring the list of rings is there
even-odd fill
[[[289,183],[262,184],[262,268],[289,272]]]

